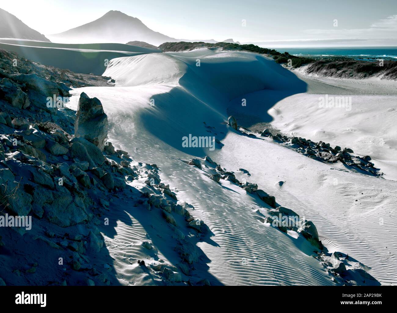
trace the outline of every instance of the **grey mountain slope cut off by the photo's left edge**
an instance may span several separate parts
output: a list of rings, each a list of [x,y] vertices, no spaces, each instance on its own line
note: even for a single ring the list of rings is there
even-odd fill
[[[44,35],[31,29],[15,15],[3,9],[0,9],[0,38],[29,39],[49,42]]]

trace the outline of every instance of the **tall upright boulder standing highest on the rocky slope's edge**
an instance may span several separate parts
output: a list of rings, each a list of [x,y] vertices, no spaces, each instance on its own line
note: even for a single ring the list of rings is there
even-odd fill
[[[97,98],[89,98],[81,93],[79,110],[75,119],[75,136],[83,137],[104,150],[108,137],[108,116],[104,113],[102,103]]]

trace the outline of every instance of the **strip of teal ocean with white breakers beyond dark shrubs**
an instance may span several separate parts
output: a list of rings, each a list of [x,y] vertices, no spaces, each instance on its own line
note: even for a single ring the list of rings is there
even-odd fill
[[[295,56],[328,58],[345,56],[355,60],[396,60],[397,47],[320,47],[320,48],[274,48],[279,52],[288,52]]]

